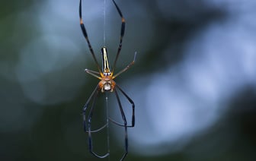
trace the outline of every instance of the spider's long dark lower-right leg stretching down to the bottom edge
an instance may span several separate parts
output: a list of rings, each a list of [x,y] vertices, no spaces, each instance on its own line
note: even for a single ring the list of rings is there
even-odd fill
[[[120,102],[120,98],[118,96],[118,93],[117,93],[116,89],[114,89],[114,93],[117,96],[117,103],[118,103],[118,106],[119,106],[119,109],[120,109],[120,112],[121,112],[121,115],[122,115],[122,118],[123,118],[125,152],[123,153],[123,156],[120,159],[120,160],[123,160],[126,157],[127,153],[128,153],[127,122],[126,122],[126,116],[123,112],[123,107],[122,107],[122,104]]]

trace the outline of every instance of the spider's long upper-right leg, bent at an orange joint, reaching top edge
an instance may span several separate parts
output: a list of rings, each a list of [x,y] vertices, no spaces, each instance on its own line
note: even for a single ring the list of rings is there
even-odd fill
[[[120,51],[122,49],[122,43],[123,43],[123,35],[124,35],[124,30],[125,30],[125,19],[123,17],[122,12],[120,11],[120,8],[117,6],[117,3],[112,0],[114,2],[115,7],[117,8],[118,14],[120,15],[121,19],[122,19],[122,24],[121,24],[121,33],[120,33],[120,42],[119,42],[119,47],[117,49],[117,55],[116,58],[114,60],[114,65],[113,65],[113,70],[112,72],[114,72],[115,68],[116,68],[116,64],[117,64],[117,59],[119,57]]]

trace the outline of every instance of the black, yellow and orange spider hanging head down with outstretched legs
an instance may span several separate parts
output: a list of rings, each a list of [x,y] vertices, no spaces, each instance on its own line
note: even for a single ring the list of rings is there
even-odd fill
[[[108,119],[111,122],[113,122],[114,124],[119,125],[119,126],[124,128],[124,150],[125,151],[123,153],[122,158],[120,159],[120,160],[123,160],[126,157],[127,153],[128,153],[127,128],[132,128],[135,125],[135,105],[133,103],[133,100],[130,99],[130,97],[120,88],[120,86],[118,86],[116,84],[116,82],[114,81],[114,78],[116,78],[118,75],[122,74],[124,71],[126,71],[128,68],[130,68],[131,65],[134,64],[135,59],[136,59],[136,52],[134,54],[133,62],[130,62],[130,64],[127,65],[126,68],[123,68],[123,70],[119,71],[117,74],[114,74],[115,67],[116,67],[116,64],[117,64],[117,59],[118,59],[118,57],[120,55],[120,51],[122,49],[123,34],[124,34],[126,22],[125,22],[125,19],[123,17],[122,12],[120,11],[120,8],[117,6],[117,3],[114,0],[112,0],[112,2],[114,3],[114,6],[117,9],[117,12],[120,15],[121,20],[122,20],[121,32],[120,32],[120,43],[119,43],[119,47],[117,49],[116,58],[114,59],[114,65],[112,66],[113,67],[112,70],[110,70],[110,65],[109,65],[108,58],[107,58],[107,48],[106,48],[106,46],[101,48],[102,69],[100,68],[100,65],[98,64],[98,61],[97,61],[97,59],[95,57],[95,54],[94,54],[94,50],[92,49],[91,43],[88,39],[88,34],[86,32],[85,25],[84,25],[83,20],[82,20],[82,0],[80,0],[80,2],[79,2],[79,17],[80,17],[80,26],[81,26],[81,29],[82,29],[82,33],[85,36],[85,39],[88,43],[88,48],[90,49],[91,55],[94,59],[94,62],[96,64],[97,68],[98,68],[98,71],[91,71],[91,70],[88,70],[88,69],[85,69],[85,71],[88,74],[91,74],[92,76],[97,77],[100,80],[98,85],[95,87],[95,89],[91,93],[91,96],[88,98],[87,102],[85,103],[85,106],[83,108],[83,120],[84,120],[84,130],[85,130],[86,133],[88,133],[88,147],[89,147],[90,153],[92,153],[94,156],[96,156],[98,158],[105,158],[105,157],[109,156],[110,155],[109,152],[106,153],[103,156],[98,155],[97,153],[95,153],[94,150],[93,150],[92,138],[91,138],[91,133],[101,131],[102,129],[107,127],[108,123],[105,124],[104,126],[102,126],[101,128],[98,128],[97,130],[91,130],[91,117],[92,117],[93,110],[94,110],[94,103],[95,103],[95,100],[98,96],[99,91],[101,91],[101,93],[104,93],[104,92],[114,93],[116,98],[117,98],[117,104],[119,106],[119,110],[120,110],[120,113],[121,113],[121,116],[122,116],[122,119],[123,119],[123,123],[116,122],[112,118],[108,118]],[[132,113],[133,114],[132,114],[131,125],[127,125],[126,115],[123,112],[123,107],[122,107],[122,104],[120,102],[120,97],[117,93],[117,90],[119,90],[120,93],[122,93],[123,96],[125,96],[126,99],[128,99],[128,101],[130,102],[130,104],[132,106]],[[86,118],[85,112],[88,109],[89,103],[91,103],[91,109],[88,112],[88,118]]]

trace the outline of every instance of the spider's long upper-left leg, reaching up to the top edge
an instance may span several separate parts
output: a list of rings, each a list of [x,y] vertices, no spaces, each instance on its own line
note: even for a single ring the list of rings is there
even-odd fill
[[[100,65],[98,64],[98,61],[97,61],[97,59],[95,57],[94,50],[91,47],[91,43],[89,41],[88,34],[86,32],[85,25],[84,25],[83,20],[82,20],[82,0],[80,0],[80,2],[79,2],[79,17],[80,17],[80,27],[82,29],[82,33],[84,34],[85,39],[86,39],[86,41],[88,43],[88,47],[89,47],[89,49],[91,51],[92,57],[94,58],[94,62],[97,65],[98,71],[101,71]]]

